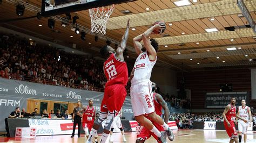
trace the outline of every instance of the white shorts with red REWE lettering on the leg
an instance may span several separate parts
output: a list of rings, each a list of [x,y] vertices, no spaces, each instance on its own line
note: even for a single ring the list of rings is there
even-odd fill
[[[150,80],[132,84],[131,102],[134,116],[154,112],[152,82]]]

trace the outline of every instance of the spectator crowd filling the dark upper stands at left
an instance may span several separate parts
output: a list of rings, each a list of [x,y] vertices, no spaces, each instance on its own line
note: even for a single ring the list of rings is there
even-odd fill
[[[1,77],[93,91],[104,89],[103,62],[88,55],[65,53],[6,35],[0,38],[0,51]]]

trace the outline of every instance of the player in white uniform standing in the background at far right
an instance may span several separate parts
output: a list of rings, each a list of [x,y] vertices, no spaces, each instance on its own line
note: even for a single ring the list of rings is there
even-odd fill
[[[246,139],[247,139],[247,135],[246,135],[246,132],[247,132],[247,128],[248,126],[251,127],[252,125],[252,113],[251,113],[251,109],[250,107],[246,106],[246,102],[245,100],[243,99],[242,100],[242,105],[239,106],[238,108],[238,112],[237,112],[237,115],[239,117],[242,117],[242,118],[245,118],[246,120],[249,120],[250,119],[250,123],[247,122],[245,123],[243,120],[240,120],[238,121],[238,138],[239,138],[239,142],[241,142],[242,140],[242,134],[244,134],[244,142],[246,142]],[[235,124],[237,124],[237,118],[235,119]]]

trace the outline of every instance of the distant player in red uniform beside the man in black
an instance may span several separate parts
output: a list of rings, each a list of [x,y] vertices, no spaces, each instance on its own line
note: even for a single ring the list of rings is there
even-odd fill
[[[95,109],[93,108],[92,99],[89,100],[89,105],[84,106],[82,126],[86,137],[89,137],[89,131],[92,129],[93,122],[95,120]]]

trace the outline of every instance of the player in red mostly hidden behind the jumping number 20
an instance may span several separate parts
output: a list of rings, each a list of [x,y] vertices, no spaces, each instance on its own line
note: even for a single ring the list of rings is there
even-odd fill
[[[157,84],[152,82],[152,91],[153,91],[153,102],[154,102],[154,109],[155,112],[158,116],[162,115],[162,109],[164,109],[164,121],[166,124],[168,124],[169,121],[169,108],[166,104],[166,102],[164,101],[163,97],[159,94],[156,93],[157,90]],[[149,118],[149,116],[145,115],[145,117],[149,120],[151,120]],[[152,121],[152,120],[151,120]],[[161,125],[157,124],[156,122],[152,121],[153,125],[156,126],[158,131],[165,131],[164,127],[162,127]],[[145,140],[149,139],[151,137],[151,135],[158,141],[158,137],[156,134],[154,134],[153,132],[151,132],[150,130],[147,130],[147,128],[145,128],[144,126],[140,126],[139,130],[138,130],[138,134],[137,134],[137,140],[136,143],[142,143],[145,142]],[[174,139],[174,135],[172,134],[172,140]]]

